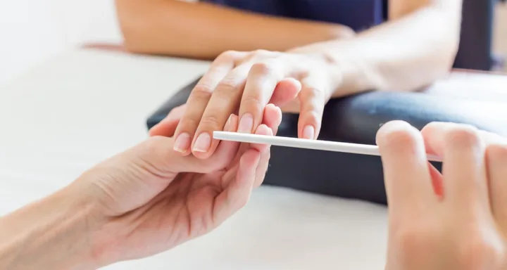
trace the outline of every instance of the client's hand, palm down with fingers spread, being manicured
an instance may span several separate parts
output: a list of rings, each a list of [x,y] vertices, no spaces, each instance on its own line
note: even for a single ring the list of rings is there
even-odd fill
[[[300,138],[316,139],[324,105],[339,84],[325,57],[272,51],[223,53],[190,94],[175,131],[175,150],[197,158],[210,157],[218,146],[211,134],[223,130],[231,113],[239,112],[239,132],[251,133],[263,120],[268,103],[284,106],[299,100]],[[156,127],[152,134],[170,129]]]

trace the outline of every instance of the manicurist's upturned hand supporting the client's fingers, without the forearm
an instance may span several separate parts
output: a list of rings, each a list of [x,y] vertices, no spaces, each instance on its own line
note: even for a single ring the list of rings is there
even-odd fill
[[[276,133],[281,117],[280,108],[266,106],[256,134]],[[237,121],[232,115],[225,129],[237,129]],[[173,144],[152,137],[77,181],[99,202],[94,216],[106,220],[91,240],[99,265],[154,255],[211,231],[243,207],[270,158],[268,146],[222,141],[212,158],[198,160],[177,155]]]

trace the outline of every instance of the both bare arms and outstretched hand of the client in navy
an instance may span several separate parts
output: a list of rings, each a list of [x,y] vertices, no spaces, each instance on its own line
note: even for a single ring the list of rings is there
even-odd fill
[[[239,114],[237,131],[249,133],[262,122],[263,107],[274,103],[285,112],[299,113],[299,138],[317,139],[331,98],[372,89],[413,91],[446,75],[458,49],[461,4],[461,0],[392,0],[387,23],[344,35],[321,35],[313,29],[344,32],[343,25],[268,18],[204,3],[118,0],[118,11],[127,48],[129,41],[141,42],[131,48],[157,44],[159,49],[139,52],[216,57],[192,91],[177,127],[174,121],[163,120],[150,131],[174,135],[175,150],[202,159],[213,155],[218,141],[211,133],[222,130],[231,113]],[[189,12],[200,15],[170,15]],[[144,23],[136,24],[141,18]],[[270,27],[249,27],[263,23]],[[224,25],[232,28],[223,31]],[[275,38],[282,34],[308,40]],[[169,37],[170,44],[165,44]],[[281,40],[284,44],[278,43]],[[198,48],[192,49],[194,45]],[[294,92],[292,102],[277,103],[278,96]]]

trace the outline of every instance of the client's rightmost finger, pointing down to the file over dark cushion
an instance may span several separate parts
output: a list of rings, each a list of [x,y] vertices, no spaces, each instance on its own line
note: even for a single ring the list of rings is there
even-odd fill
[[[302,139],[317,139],[327,101],[323,82],[318,77],[302,80],[303,88],[299,94],[301,104],[298,120],[298,136]]]

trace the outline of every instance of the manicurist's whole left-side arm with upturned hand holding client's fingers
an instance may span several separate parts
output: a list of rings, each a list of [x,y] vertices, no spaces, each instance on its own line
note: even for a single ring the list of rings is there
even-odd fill
[[[265,120],[256,134],[273,136],[280,108],[267,106]],[[231,115],[226,130],[236,128]],[[211,160],[182,157],[173,145],[148,139],[0,217],[0,269],[98,269],[170,250],[240,210],[270,159],[266,144],[224,141]]]

